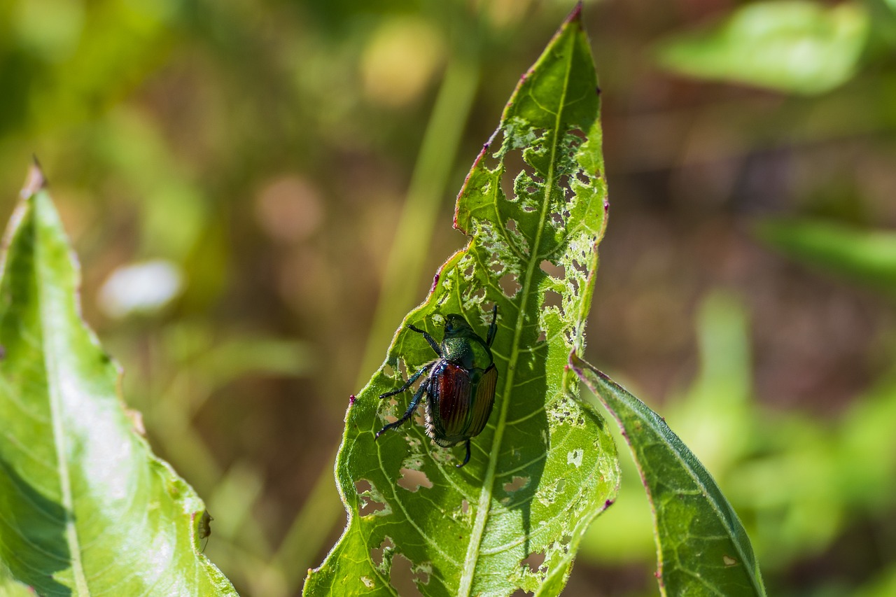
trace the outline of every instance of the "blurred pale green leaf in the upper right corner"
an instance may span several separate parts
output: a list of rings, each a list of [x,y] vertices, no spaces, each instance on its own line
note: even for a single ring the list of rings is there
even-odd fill
[[[657,57],[680,74],[814,95],[856,73],[869,23],[858,2],[756,2],[710,28],[661,41]]]

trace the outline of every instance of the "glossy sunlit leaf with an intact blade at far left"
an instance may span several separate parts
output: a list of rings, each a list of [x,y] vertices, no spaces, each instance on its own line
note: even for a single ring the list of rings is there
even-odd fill
[[[77,264],[36,168],[22,195],[0,279],[0,588],[235,595],[200,551],[202,500],[138,435],[119,370],[82,321]]]

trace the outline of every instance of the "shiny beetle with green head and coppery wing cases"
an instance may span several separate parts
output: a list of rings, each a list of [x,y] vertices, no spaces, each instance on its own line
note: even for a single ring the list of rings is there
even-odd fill
[[[442,447],[466,442],[467,455],[457,467],[470,462],[470,437],[482,433],[495,406],[498,370],[491,346],[497,332],[497,314],[498,307],[495,305],[486,340],[480,338],[467,320],[457,314],[445,316],[441,345],[428,333],[408,325],[411,330],[423,335],[439,358],[419,368],[399,389],[380,395],[380,398],[388,398],[401,394],[421,376],[429,374],[411,398],[408,410],[401,419],[380,429],[376,437],[409,420],[426,394],[426,435]]]

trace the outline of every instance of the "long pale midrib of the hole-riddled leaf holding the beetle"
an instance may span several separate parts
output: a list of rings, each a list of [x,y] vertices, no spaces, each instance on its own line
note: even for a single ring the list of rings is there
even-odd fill
[[[574,43],[574,39],[572,42]],[[569,43],[569,42],[568,42]],[[476,520],[473,523],[473,531],[470,533],[470,542],[467,548],[467,557],[465,558],[463,573],[461,574],[461,584],[458,589],[458,595],[461,597],[469,597],[473,587],[473,578],[478,564],[478,555],[482,538],[486,529],[486,522],[490,511],[492,492],[495,484],[495,470],[497,468],[498,454],[500,453],[501,442],[504,439],[505,421],[507,419],[507,411],[510,404],[510,392],[513,389],[513,376],[516,371],[516,362],[520,355],[520,341],[522,337],[522,328],[525,318],[526,303],[531,294],[532,276],[535,273],[535,264],[538,263],[538,251],[541,247],[541,236],[545,228],[547,217],[547,209],[550,205],[551,188],[554,186],[555,177],[555,160],[557,146],[560,143],[563,109],[566,102],[566,91],[569,85],[569,74],[573,65],[573,53],[569,54],[566,64],[566,73],[564,76],[563,92],[560,95],[560,101],[557,103],[556,121],[554,126],[554,143],[551,146],[550,169],[548,170],[547,179],[545,180],[544,201],[541,204],[540,218],[538,220],[538,231],[535,241],[530,250],[530,261],[526,269],[526,276],[521,284],[521,302],[520,316],[517,317],[516,327],[513,330],[513,344],[510,358],[507,361],[507,373],[504,381],[503,400],[501,401],[501,412],[499,413],[497,425],[495,425],[495,436],[492,439],[492,448],[489,452],[488,466],[486,475],[482,482],[482,491],[479,493],[479,503],[476,509]],[[502,126],[504,122],[502,122]]]

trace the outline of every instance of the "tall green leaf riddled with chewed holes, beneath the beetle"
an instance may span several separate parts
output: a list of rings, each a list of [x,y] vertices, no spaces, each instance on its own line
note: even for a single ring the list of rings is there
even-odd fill
[[[582,533],[618,480],[607,425],[577,400],[578,379],[565,367],[584,342],[605,226],[598,112],[577,9],[523,76],[470,170],[455,213],[468,245],[404,321],[439,339],[442,316],[461,313],[485,337],[498,306],[487,428],[461,469],[463,446],[435,446],[417,418],[375,441],[409,401],[409,393],[378,396],[401,385],[402,369],[434,358],[403,324],[383,368],[349,405],[336,464],[349,520],[306,594],[397,594],[399,555],[426,595],[562,590]]]

